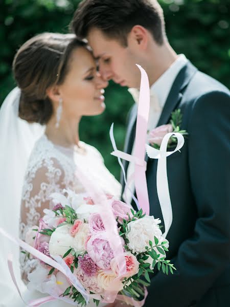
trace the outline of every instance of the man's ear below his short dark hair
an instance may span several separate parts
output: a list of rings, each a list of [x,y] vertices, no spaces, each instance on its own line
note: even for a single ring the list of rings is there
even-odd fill
[[[141,50],[145,50],[148,45],[149,33],[147,29],[142,26],[136,25],[132,27],[128,41],[135,48],[140,48]]]

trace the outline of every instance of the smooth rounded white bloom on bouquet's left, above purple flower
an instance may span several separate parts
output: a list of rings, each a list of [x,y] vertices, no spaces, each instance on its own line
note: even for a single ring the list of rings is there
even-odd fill
[[[73,247],[74,238],[70,235],[71,225],[63,225],[52,233],[49,243],[50,254],[63,256]]]

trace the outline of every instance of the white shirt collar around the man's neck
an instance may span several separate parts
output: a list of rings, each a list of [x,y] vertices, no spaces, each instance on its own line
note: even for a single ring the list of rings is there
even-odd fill
[[[164,107],[173,82],[181,68],[188,62],[185,55],[178,55],[177,59],[150,87],[150,96],[157,96],[160,107]],[[140,91],[137,89],[128,89],[134,101],[138,103]]]

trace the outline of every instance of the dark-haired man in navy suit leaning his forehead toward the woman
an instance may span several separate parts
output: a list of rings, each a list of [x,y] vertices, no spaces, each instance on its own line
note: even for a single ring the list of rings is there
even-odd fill
[[[146,70],[151,86],[149,130],[168,124],[171,113],[180,109],[180,129],[189,134],[181,153],[167,159],[173,210],[167,257],[177,271],[152,277],[145,306],[229,306],[229,91],[175,53],[165,33],[163,10],[155,0],[84,0],[72,28],[87,38],[103,78],[128,86],[136,102],[141,76],[135,63]],[[135,104],[129,114],[128,153],[133,150],[136,112]],[[132,165],[125,166],[129,177]],[[150,214],[163,222],[156,167],[157,161],[149,159]]]

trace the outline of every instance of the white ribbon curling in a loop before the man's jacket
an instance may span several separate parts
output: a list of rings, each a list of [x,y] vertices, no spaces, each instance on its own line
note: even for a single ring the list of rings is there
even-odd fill
[[[177,138],[177,146],[173,151],[167,151],[167,145],[171,136]],[[165,223],[164,237],[167,236],[169,229],[172,225],[173,213],[172,204],[169,194],[169,183],[167,176],[167,161],[166,158],[171,156],[174,152],[179,150],[185,139],[180,133],[168,133],[162,140],[160,149],[156,149],[146,144],[146,152],[150,159],[158,159],[157,171],[156,171],[156,188],[159,199],[160,208],[162,209],[162,215]]]

